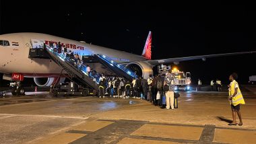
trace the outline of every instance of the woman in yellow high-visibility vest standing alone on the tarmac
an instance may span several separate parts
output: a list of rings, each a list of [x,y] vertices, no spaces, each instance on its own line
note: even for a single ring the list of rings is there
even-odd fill
[[[233,121],[228,125],[236,125],[236,113],[239,117],[239,126],[243,125],[242,116],[240,112],[240,104],[245,104],[245,100],[243,99],[243,95],[238,87],[238,83],[236,82],[238,75],[236,73],[232,73],[230,75],[229,80],[231,81],[229,85],[229,98],[232,110]]]

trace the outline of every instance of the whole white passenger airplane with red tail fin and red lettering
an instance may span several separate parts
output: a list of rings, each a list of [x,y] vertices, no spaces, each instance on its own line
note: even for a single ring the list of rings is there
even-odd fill
[[[179,64],[181,61],[191,61],[195,59],[224,57],[231,55],[251,54],[255,51],[249,52],[233,52],[216,55],[201,55],[193,57],[178,57],[171,59],[151,59],[151,45],[152,32],[149,32],[146,44],[143,48],[142,55],[135,55],[129,52],[114,50],[103,46],[96,46],[86,42],[79,42],[76,40],[69,40],[58,36],[51,36],[49,34],[40,33],[13,33],[0,35],[0,73],[3,73],[3,79],[9,81],[17,81],[20,83],[24,77],[33,77],[34,82],[38,86],[50,86],[53,83],[61,83],[65,77],[58,78],[61,74],[62,68],[51,59],[29,58],[29,52],[32,48],[42,48],[44,44],[49,46],[57,45],[61,42],[61,46],[71,50],[74,53],[82,55],[106,55],[115,63],[124,65],[131,71],[136,71],[139,77],[148,78],[153,74],[152,67],[155,65],[162,65],[166,63]],[[93,69],[98,69],[100,73],[108,73],[106,69],[100,69],[98,65],[90,65]],[[65,75],[65,72],[63,73]],[[24,94],[23,87],[19,88],[19,94]]]

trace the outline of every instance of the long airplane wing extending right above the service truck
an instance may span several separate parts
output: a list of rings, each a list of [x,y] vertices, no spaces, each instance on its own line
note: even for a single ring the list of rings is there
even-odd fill
[[[256,51],[233,52],[233,53],[224,53],[224,54],[215,54],[215,55],[201,55],[201,56],[193,56],[193,57],[178,57],[178,58],[158,59],[158,60],[150,60],[150,61],[147,60],[146,62],[150,63],[151,65],[160,65],[165,63],[174,63],[177,65],[179,64],[180,61],[191,61],[195,59],[202,59],[203,61],[205,61],[206,58],[243,55],[243,54],[252,54],[252,53],[256,53]]]

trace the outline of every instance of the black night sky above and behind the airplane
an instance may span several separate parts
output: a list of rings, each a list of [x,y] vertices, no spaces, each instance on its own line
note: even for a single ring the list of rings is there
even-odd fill
[[[38,3],[40,2],[40,4]],[[256,50],[256,9],[235,5],[170,5],[127,1],[1,1],[1,34],[39,32],[141,55],[152,31],[152,59]],[[256,75],[256,55],[181,62],[203,84],[238,73]],[[173,64],[171,64],[173,65]]]

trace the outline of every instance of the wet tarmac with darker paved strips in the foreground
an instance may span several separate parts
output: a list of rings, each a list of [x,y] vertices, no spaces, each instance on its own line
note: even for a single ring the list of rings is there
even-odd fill
[[[242,127],[227,125],[232,115],[226,92],[181,92],[179,108],[174,110],[133,98],[51,98],[47,94],[0,98],[0,141],[254,143],[256,95],[245,92],[244,97]]]

